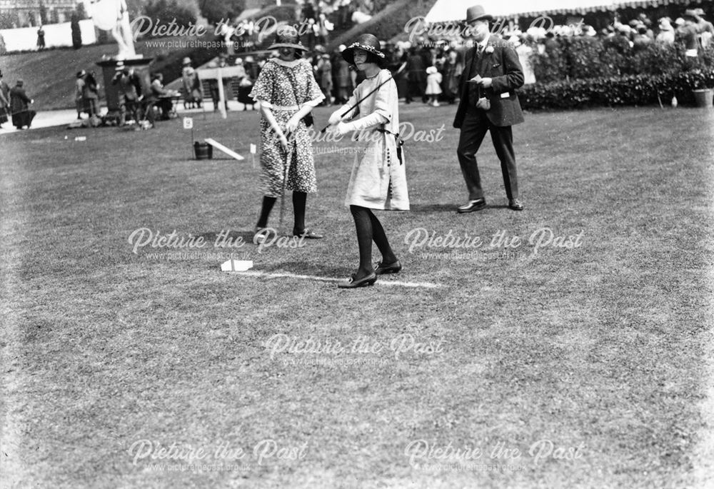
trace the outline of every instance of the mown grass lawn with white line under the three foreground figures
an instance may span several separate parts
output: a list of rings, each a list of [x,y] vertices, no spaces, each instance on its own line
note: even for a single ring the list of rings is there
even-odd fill
[[[487,137],[489,207],[467,215],[453,107],[401,119],[445,130],[407,143],[412,210],[380,213],[403,273],[358,291],[220,271],[233,253],[348,276],[351,141],[316,143],[343,148],[316,156],[308,198],[326,239],[258,253],[213,246],[250,237],[258,170],[192,159],[180,121],[0,136],[0,486],[703,487],[712,113],[530,114],[526,210],[506,208]],[[195,123],[258,143],[256,112]],[[134,253],[141,228],[208,244]],[[546,228],[579,246],[529,241]],[[413,241],[450,232],[482,244]]]

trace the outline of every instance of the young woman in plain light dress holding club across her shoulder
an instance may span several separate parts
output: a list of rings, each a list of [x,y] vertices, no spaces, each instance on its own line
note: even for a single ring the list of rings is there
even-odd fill
[[[397,86],[391,73],[382,69],[386,59],[379,41],[372,34],[363,34],[342,51],[342,56],[366,76],[347,104],[329,120],[339,134],[358,131],[358,140],[366,141],[363,152],[355,156],[345,199],[355,221],[359,268],[348,281],[338,284],[340,288],[356,288],[371,286],[378,275],[401,270],[401,263],[372,209],[408,211],[409,196],[404,157],[398,145]],[[356,108],[348,111],[353,106]],[[361,116],[359,119],[345,122],[357,114]],[[376,268],[372,265],[372,241],[382,254]]]

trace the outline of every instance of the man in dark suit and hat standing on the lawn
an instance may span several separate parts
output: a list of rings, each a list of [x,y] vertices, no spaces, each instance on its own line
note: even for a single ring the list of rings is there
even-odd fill
[[[459,213],[480,211],[486,207],[481,177],[476,164],[476,152],[486,131],[491,132],[493,147],[501,160],[503,183],[506,184],[508,207],[522,211],[518,200],[516,155],[513,152],[511,126],[523,122],[521,104],[516,89],[523,86],[523,68],[518,54],[508,42],[491,34],[488,23],[493,17],[480,5],[466,11],[466,24],[471,28],[476,46],[466,51],[461,77],[461,101],[453,121],[461,129],[458,140],[458,163],[468,188],[468,203]]]

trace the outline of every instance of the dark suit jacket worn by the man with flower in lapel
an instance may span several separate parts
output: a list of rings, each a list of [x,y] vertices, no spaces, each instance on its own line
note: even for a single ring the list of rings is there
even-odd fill
[[[492,51],[489,48],[493,48],[493,52],[488,52]],[[492,80],[490,88],[480,88],[481,96],[491,102],[491,109],[486,111],[488,120],[494,126],[513,126],[523,122],[521,103],[518,102],[516,95],[516,89],[523,86],[523,68],[518,61],[516,50],[493,34],[488,39],[487,47],[480,58],[476,56],[476,49],[477,46],[474,46],[466,51],[466,62],[463,66],[459,90],[461,100],[456,109],[453,126],[460,128],[468,105],[476,105],[475,100],[469,100],[468,88],[471,84],[467,83],[476,74],[481,75],[481,78]],[[475,70],[472,70],[472,66]]]

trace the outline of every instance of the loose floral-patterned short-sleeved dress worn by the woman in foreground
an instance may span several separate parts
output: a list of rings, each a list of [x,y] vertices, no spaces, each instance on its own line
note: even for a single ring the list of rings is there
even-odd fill
[[[282,127],[301,106],[315,107],[325,98],[307,60],[283,61],[276,58],[268,60],[263,66],[250,96],[270,108]],[[300,121],[288,139],[288,151],[291,152],[291,162],[286,190],[316,192],[315,162],[304,121]],[[287,156],[279,138],[273,133],[270,123],[261,118],[260,189],[264,196],[281,196],[286,162]]]

